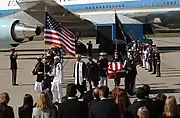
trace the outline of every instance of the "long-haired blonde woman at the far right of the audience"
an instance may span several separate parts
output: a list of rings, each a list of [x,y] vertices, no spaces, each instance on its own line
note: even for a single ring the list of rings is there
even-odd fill
[[[177,114],[177,102],[174,96],[169,96],[166,99],[164,113],[161,118],[180,118]]]

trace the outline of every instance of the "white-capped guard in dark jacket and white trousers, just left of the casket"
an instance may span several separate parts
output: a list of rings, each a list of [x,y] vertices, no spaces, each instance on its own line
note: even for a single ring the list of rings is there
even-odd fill
[[[99,67],[99,86],[107,86],[107,71],[108,71],[108,59],[105,58],[106,53],[100,53],[100,58],[98,60]]]

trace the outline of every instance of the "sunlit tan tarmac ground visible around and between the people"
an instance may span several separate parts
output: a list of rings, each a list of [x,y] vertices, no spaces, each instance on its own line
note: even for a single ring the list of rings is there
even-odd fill
[[[83,40],[86,43],[88,40]],[[95,44],[95,40],[92,40]],[[138,67],[138,75],[136,79],[136,88],[142,86],[143,84],[148,84],[151,86],[151,97],[155,97],[158,93],[165,93],[166,95],[174,95],[179,101],[180,95],[180,50],[173,47],[180,46],[179,37],[172,38],[154,38],[154,44],[163,47],[161,53],[161,73],[162,77],[155,77],[151,75],[146,70],[141,67]],[[6,91],[10,95],[10,103],[14,108],[16,118],[18,118],[18,107],[23,103],[24,94],[29,93],[33,96],[34,101],[36,101],[37,94],[34,91],[34,83],[36,76],[32,75],[32,70],[36,64],[36,56],[42,55],[44,52],[38,51],[38,49],[43,49],[43,41],[32,41],[17,47],[18,54],[18,74],[17,74],[17,83],[19,86],[11,85],[11,71],[10,67],[10,52],[7,49],[6,51],[0,52],[0,91]],[[97,45],[94,45],[97,47]],[[167,50],[165,50],[167,47]],[[170,49],[171,47],[171,49]],[[48,48],[48,47],[47,47]],[[24,50],[24,51],[23,51]],[[86,58],[83,58],[84,61],[87,61]],[[74,82],[73,74],[73,64],[75,59],[64,59],[64,83],[63,83],[63,92],[65,94],[65,87],[68,83]],[[108,86],[110,90],[114,88],[113,80],[108,81]],[[124,79],[121,81],[121,88],[124,88]],[[135,99],[135,96],[130,97],[131,101]]]

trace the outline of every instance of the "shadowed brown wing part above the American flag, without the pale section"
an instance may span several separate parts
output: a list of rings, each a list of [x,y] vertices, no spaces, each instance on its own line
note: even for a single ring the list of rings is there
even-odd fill
[[[23,0],[18,2],[21,9],[42,24],[45,22],[45,9],[57,21],[71,30],[94,29],[94,24],[74,14],[54,0]]]

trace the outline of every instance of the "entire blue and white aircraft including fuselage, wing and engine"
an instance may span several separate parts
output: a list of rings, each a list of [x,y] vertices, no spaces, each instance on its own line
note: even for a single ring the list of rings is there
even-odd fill
[[[83,32],[114,23],[115,12],[122,24],[174,24],[180,18],[180,0],[2,0],[0,40],[32,40],[40,33],[36,27],[43,27],[45,8],[70,30]]]

